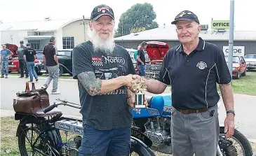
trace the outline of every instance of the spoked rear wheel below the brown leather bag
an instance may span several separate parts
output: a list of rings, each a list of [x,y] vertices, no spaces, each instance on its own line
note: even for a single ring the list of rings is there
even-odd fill
[[[40,131],[36,127],[22,128],[21,134],[18,135],[18,146],[21,156],[53,155],[50,143],[45,141],[43,137],[39,137],[39,134]]]

